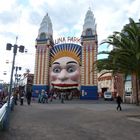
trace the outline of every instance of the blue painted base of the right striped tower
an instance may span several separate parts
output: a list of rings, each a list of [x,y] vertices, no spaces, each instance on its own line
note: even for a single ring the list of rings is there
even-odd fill
[[[80,99],[97,100],[98,99],[97,86],[81,86]]]

